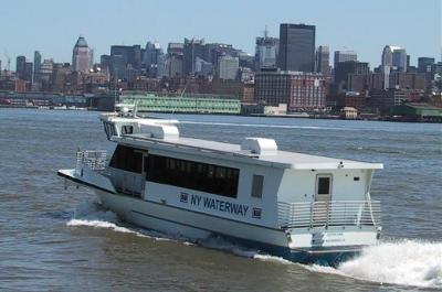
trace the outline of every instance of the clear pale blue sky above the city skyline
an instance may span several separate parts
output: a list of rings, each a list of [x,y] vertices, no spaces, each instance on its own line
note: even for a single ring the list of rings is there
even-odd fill
[[[183,37],[233,44],[254,54],[255,36],[280,23],[316,25],[316,45],[352,48],[359,61],[380,63],[386,44],[404,46],[411,64],[418,56],[441,58],[441,0],[3,0],[0,60],[33,57],[71,62],[78,35],[99,55],[112,44],[157,41],[162,47]],[[330,56],[333,63],[333,56]]]

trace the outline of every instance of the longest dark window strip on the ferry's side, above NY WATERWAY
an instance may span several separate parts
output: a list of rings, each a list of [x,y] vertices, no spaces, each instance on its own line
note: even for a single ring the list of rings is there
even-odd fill
[[[238,196],[238,169],[152,154],[148,160],[147,181],[221,196]]]

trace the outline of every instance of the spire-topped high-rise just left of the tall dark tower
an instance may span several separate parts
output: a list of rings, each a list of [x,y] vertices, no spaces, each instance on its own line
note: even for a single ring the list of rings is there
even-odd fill
[[[261,68],[275,68],[277,63],[277,53],[280,47],[280,40],[277,37],[269,36],[265,29],[264,36],[256,37],[255,46],[255,69]]]

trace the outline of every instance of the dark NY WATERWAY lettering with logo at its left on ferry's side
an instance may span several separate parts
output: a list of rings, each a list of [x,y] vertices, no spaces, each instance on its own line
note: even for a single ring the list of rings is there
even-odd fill
[[[193,206],[202,206],[208,209],[230,213],[230,214],[234,214],[234,215],[241,215],[244,217],[248,215],[248,210],[249,210],[249,206],[246,206],[246,205],[221,201],[218,198],[203,197],[200,195],[190,195],[190,201],[188,201],[187,198],[182,199],[183,194],[181,194],[180,197],[181,197],[182,203],[190,202],[190,205],[193,205]]]

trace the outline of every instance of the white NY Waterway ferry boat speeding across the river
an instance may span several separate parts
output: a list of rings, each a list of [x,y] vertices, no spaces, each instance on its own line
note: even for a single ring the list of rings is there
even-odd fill
[[[336,266],[380,236],[366,163],[286,152],[265,138],[180,137],[177,120],[102,113],[106,151],[78,151],[57,174],[95,191],[129,224],[191,239],[220,236],[301,263]]]

